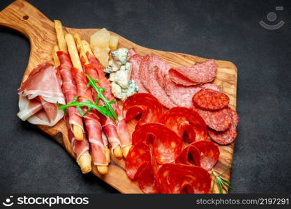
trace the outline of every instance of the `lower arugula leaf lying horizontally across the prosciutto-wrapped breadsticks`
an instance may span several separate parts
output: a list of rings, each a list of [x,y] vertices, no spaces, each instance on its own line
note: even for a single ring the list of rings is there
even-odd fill
[[[59,107],[59,109],[63,110],[66,114],[68,114],[68,111],[66,111],[66,109],[68,107],[76,107],[77,111],[79,111],[79,113],[82,117],[84,117],[91,109],[97,109],[104,116],[112,117],[111,112],[108,111],[106,107],[98,106],[97,104],[91,102],[90,100],[87,100],[87,102],[78,102],[77,98],[78,97],[75,96],[74,100],[72,102],[70,102],[68,104],[64,104],[64,105],[60,105],[59,102],[57,102],[57,106]],[[81,107],[83,107],[83,106],[88,107],[87,111],[85,111],[85,112],[82,111]]]

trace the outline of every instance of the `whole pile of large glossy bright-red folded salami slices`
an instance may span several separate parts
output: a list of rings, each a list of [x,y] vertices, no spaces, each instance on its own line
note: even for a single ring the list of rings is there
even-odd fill
[[[142,114],[142,116],[140,116]],[[144,193],[209,193],[209,172],[219,157],[207,139],[203,118],[186,107],[165,111],[149,93],[136,93],[124,102],[124,118],[140,116],[126,173]]]

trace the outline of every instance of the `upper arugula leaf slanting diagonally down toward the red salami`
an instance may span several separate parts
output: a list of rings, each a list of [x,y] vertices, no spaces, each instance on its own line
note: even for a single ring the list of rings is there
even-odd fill
[[[89,77],[89,75],[86,74],[87,79],[89,80],[87,87],[92,86],[94,90],[97,92],[97,97],[96,97],[96,104],[98,104],[98,100],[101,99],[105,103],[105,107],[110,111],[112,114],[113,118],[117,120],[117,114],[115,113],[114,109],[111,107],[111,104],[114,104],[115,101],[113,100],[107,100],[105,96],[103,95],[103,92],[105,91],[105,88],[100,88],[96,85],[96,82],[99,82],[97,79],[92,79]]]

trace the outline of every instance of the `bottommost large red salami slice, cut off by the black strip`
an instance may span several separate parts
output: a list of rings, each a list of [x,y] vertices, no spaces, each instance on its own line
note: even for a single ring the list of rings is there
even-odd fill
[[[209,193],[209,173],[195,166],[165,164],[158,170],[156,188],[163,194]]]

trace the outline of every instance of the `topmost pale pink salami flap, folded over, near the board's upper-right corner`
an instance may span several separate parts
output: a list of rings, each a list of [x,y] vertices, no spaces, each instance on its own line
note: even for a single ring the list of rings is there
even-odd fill
[[[214,60],[209,60],[201,64],[191,67],[176,68],[181,75],[196,83],[212,82],[216,77],[216,63]]]

